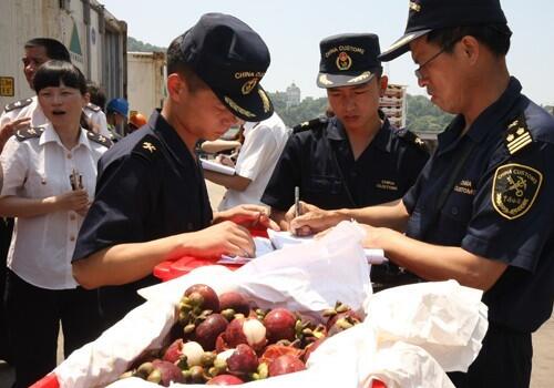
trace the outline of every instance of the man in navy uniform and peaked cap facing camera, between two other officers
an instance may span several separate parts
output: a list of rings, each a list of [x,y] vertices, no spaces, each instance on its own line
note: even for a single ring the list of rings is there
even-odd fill
[[[317,84],[327,89],[335,118],[306,125],[281,153],[261,201],[283,228],[294,217],[295,186],[304,202],[327,210],[381,204],[402,197],[429,157],[414,134],[396,129],[379,111],[388,80],[376,34],[329,37],[320,51]],[[397,273],[381,266],[372,280],[407,280]]]

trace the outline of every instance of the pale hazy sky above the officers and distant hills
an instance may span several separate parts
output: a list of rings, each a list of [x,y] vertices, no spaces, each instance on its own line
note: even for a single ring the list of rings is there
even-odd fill
[[[264,88],[283,91],[295,82],[302,98],[325,95],[316,86],[322,38],[375,32],[384,50],[403,33],[408,16],[408,0],[99,1],[127,22],[131,37],[162,47],[167,47],[203,13],[230,13],[255,29],[269,47],[271,65],[261,81]],[[504,0],[502,7],[514,32],[507,55],[511,73],[520,79],[523,92],[532,100],[554,105],[554,1]],[[391,82],[408,85],[411,94],[424,94],[417,85],[414,68],[409,54],[384,67]]]

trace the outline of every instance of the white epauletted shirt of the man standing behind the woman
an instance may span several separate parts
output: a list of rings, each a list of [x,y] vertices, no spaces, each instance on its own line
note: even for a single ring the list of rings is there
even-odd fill
[[[31,100],[32,102],[29,105],[25,105],[23,108],[16,108],[10,112],[3,112],[0,116],[0,127],[10,121],[23,118],[31,118],[31,127],[44,126],[47,123],[49,123],[50,121],[47,119],[47,115],[42,111],[42,108],[39,105],[37,95],[33,95]],[[84,109],[83,112],[84,114],[86,114],[86,118],[89,118],[95,130],[99,131],[99,134],[105,137],[110,137],[110,131],[107,131],[107,122],[104,112],[95,112],[90,109]]]

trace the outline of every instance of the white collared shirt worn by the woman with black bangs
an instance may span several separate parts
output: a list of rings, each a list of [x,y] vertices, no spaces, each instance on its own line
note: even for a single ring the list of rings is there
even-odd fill
[[[1,195],[25,198],[60,195],[72,190],[70,175],[76,171],[92,201],[98,161],[106,150],[90,141],[83,129],[72,150],[63,146],[51,124],[44,126],[40,137],[19,141],[12,136],[0,155],[4,173]],[[8,267],[38,287],[76,287],[71,257],[82,222],[83,217],[73,211],[16,218]]]

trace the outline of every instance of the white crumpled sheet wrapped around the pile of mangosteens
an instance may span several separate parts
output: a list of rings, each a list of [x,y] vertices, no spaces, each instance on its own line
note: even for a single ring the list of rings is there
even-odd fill
[[[100,387],[115,380],[144,349],[161,346],[184,289],[205,283],[217,293],[245,292],[260,307],[320,312],[339,299],[355,308],[365,306],[368,314],[363,324],[327,339],[314,351],[307,370],[245,387],[368,387],[373,377],[388,388],[452,387],[444,368],[465,370],[486,330],[480,292],[443,282],[371,296],[361,238],[355,224],[342,223],[320,241],[268,254],[235,273],[202,267],[143,289],[147,303],[55,369],[60,386]],[[130,378],[110,387],[155,386]]]

